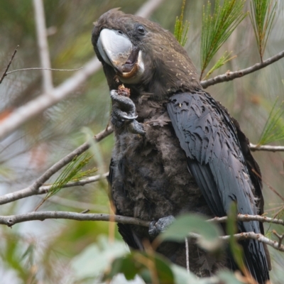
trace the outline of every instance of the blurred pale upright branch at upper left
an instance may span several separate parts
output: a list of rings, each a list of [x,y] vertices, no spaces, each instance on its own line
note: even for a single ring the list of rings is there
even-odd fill
[[[35,10],[35,26],[38,38],[38,50],[40,53],[40,65],[44,69],[43,75],[43,92],[50,92],[53,89],[53,75],[50,72],[50,55],[48,51],[48,34],[45,27],[45,11],[43,8],[43,0],[33,0],[33,8]]]

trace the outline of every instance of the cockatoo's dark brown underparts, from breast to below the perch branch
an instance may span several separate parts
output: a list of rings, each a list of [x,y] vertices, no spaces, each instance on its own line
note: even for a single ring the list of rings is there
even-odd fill
[[[148,111],[143,118],[145,107]],[[214,217],[195,179],[188,173],[184,151],[163,104],[144,99],[141,106],[137,97],[136,110],[143,119],[145,136],[122,131],[116,135],[112,155],[110,179],[117,214],[158,220],[190,211]],[[134,249],[142,249],[143,239],[149,239],[146,227],[119,224],[119,231]],[[158,251],[186,266],[185,244],[167,244]],[[195,274],[209,275],[231,263],[221,259],[208,265],[214,267],[207,269],[206,253],[191,240],[190,269]]]

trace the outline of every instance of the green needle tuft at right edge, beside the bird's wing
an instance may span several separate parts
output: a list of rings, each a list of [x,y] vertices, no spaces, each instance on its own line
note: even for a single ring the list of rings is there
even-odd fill
[[[275,100],[259,138],[258,145],[284,140],[283,103],[279,103],[278,98]]]

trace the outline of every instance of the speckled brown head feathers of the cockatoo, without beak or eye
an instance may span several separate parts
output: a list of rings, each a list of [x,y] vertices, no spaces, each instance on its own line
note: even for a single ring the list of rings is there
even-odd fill
[[[143,25],[145,35],[138,35],[138,25]],[[104,28],[122,31],[135,48],[142,50],[145,72],[141,82],[136,86],[127,87],[135,87],[150,93],[153,99],[170,97],[178,91],[186,92],[201,88],[195,66],[172,33],[146,18],[111,9],[99,18],[92,31],[94,51],[102,62],[110,89],[118,87],[114,80],[116,72],[104,62],[97,48],[99,34]]]

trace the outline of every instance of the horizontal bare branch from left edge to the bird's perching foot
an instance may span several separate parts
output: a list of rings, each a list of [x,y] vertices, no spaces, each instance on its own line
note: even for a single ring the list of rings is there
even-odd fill
[[[26,214],[0,216],[0,224],[13,226],[14,224],[27,221],[44,221],[45,219],[72,219],[77,221],[108,221],[117,222],[121,224],[132,224],[138,226],[149,226],[150,221],[143,221],[141,219],[125,217],[119,215],[109,214],[83,214],[76,212],[62,212],[62,211],[43,211],[30,212]]]

